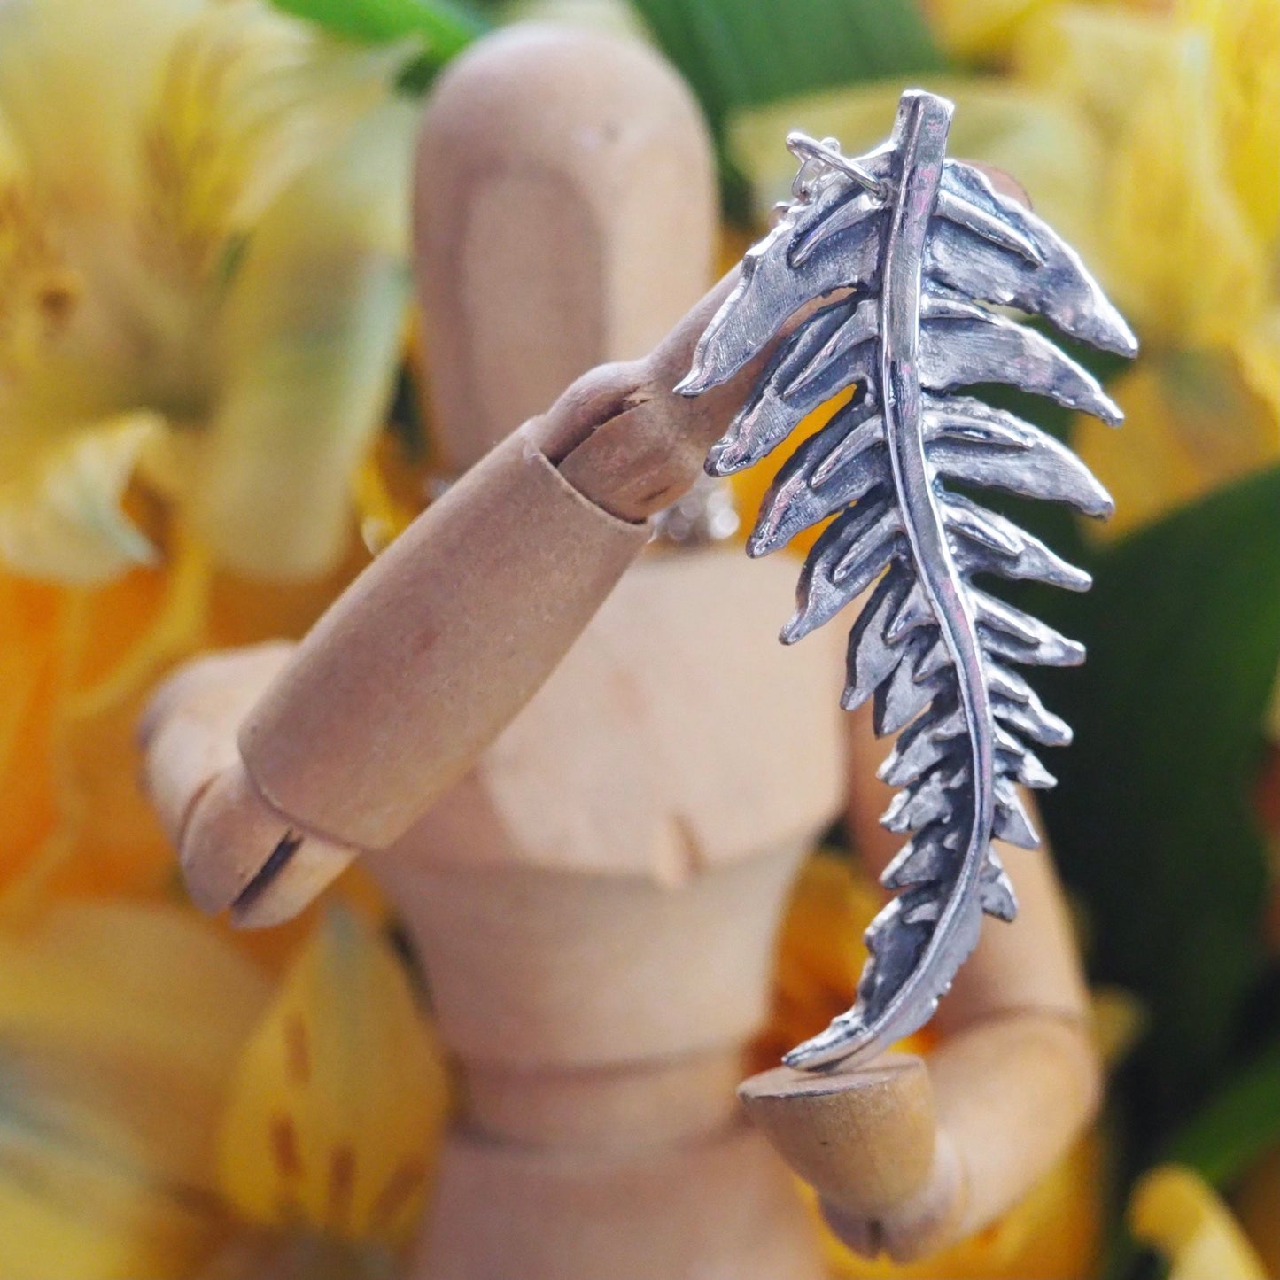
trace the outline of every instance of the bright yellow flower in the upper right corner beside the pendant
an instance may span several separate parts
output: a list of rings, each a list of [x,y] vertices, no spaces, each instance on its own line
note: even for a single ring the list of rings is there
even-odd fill
[[[1064,5],[1025,26],[1015,65],[1108,148],[1100,268],[1144,353],[1112,388],[1124,431],[1082,417],[1075,443],[1114,536],[1280,453],[1280,4]]]

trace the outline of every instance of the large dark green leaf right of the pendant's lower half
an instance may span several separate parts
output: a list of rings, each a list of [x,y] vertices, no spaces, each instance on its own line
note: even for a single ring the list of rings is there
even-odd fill
[[[1280,468],[1098,554],[1088,595],[1034,602],[1089,648],[1083,669],[1038,673],[1076,731],[1044,810],[1096,975],[1152,1011],[1134,1064],[1148,1133],[1203,1096],[1261,974],[1251,788],[1280,662],[1277,511]]]

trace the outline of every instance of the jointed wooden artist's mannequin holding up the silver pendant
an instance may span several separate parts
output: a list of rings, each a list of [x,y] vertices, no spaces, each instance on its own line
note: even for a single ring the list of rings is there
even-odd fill
[[[794,566],[736,548],[653,549],[609,594],[753,375],[671,394],[723,285],[659,342],[709,259],[700,120],[644,50],[513,31],[444,77],[419,159],[433,392],[467,476],[296,652],[161,690],[152,795],[209,910],[283,919],[367,852],[403,913],[466,1093],[415,1274],[814,1276],[732,1087],[791,872],[841,803],[842,640],[778,646]],[[1092,1105],[1061,904],[1014,856],[1024,914],[940,1015],[932,1085],[902,1059],[745,1087],[870,1251],[989,1220]]]

